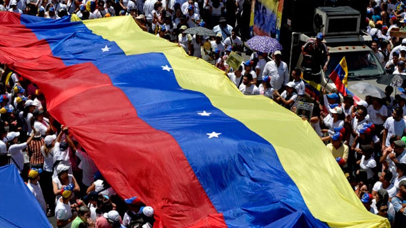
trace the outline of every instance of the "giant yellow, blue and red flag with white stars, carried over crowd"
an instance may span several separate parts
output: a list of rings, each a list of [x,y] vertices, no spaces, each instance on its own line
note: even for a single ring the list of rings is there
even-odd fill
[[[122,197],[157,227],[385,227],[294,113],[244,96],[130,17],[0,13],[0,61],[37,83]]]

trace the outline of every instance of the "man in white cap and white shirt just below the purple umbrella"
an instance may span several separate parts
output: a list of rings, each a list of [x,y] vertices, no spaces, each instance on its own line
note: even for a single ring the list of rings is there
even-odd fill
[[[270,85],[279,92],[283,89],[283,85],[289,82],[288,65],[281,60],[282,52],[277,50],[274,52],[274,60],[266,63],[263,69],[262,78],[270,77]]]

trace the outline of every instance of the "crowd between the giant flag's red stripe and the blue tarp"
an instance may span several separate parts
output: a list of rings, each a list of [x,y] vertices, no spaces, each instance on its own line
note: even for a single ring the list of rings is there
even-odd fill
[[[0,65],[0,166],[13,164],[58,227],[152,227],[154,209],[121,199],[30,81]]]

